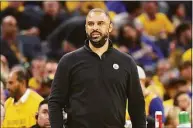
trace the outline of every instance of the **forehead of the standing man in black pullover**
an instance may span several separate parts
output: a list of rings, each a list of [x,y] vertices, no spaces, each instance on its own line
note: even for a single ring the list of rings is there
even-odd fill
[[[96,20],[100,20],[100,21],[108,21],[109,18],[108,16],[104,13],[104,12],[90,12],[87,15],[87,21],[96,21]]]

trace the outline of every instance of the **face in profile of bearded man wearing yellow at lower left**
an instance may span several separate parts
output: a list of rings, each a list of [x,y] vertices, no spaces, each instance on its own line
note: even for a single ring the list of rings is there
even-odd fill
[[[9,91],[10,97],[16,98],[16,95],[20,92],[21,83],[17,80],[16,73],[10,73],[7,81],[7,89]]]

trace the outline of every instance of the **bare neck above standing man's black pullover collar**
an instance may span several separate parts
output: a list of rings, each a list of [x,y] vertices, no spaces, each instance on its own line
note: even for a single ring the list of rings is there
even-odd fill
[[[104,46],[102,46],[101,48],[96,48],[94,47],[91,42],[89,41],[89,47],[90,49],[95,52],[97,55],[99,55],[99,57],[101,58],[101,56],[103,55],[104,52],[106,52],[108,50],[109,47],[109,41],[107,40],[106,43],[104,44]]]

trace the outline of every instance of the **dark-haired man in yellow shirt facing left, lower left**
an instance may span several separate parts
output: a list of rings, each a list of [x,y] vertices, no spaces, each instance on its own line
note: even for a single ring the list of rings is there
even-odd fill
[[[27,89],[27,75],[22,68],[13,69],[8,77],[10,98],[5,102],[3,128],[31,127],[36,123],[35,114],[43,98]]]

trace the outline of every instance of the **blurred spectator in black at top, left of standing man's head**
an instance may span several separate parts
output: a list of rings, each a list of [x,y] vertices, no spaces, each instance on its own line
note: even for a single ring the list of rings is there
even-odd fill
[[[58,1],[44,1],[43,12],[44,15],[38,25],[38,30],[40,39],[45,41],[47,36],[69,17],[60,8],[60,3]]]

